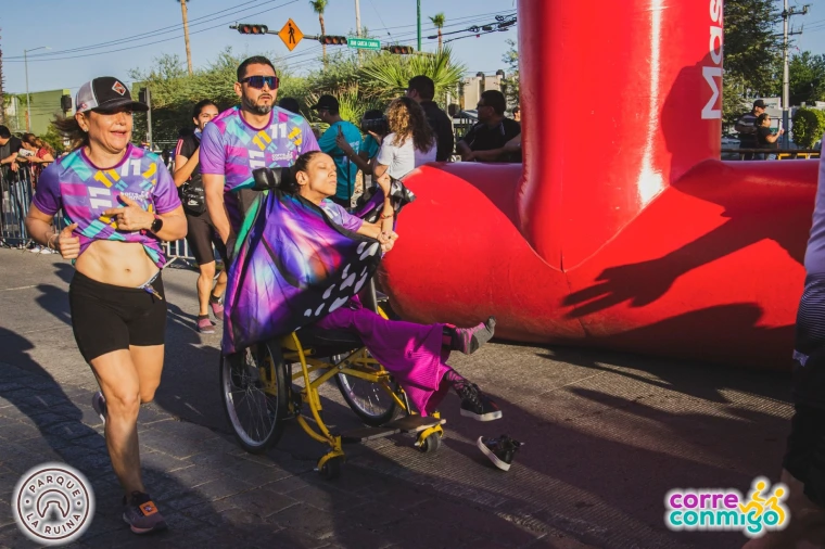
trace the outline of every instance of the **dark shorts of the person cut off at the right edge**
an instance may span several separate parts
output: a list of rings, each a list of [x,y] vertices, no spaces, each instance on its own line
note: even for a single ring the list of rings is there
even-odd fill
[[[795,347],[795,413],[783,467],[825,507],[825,274],[805,278]]]

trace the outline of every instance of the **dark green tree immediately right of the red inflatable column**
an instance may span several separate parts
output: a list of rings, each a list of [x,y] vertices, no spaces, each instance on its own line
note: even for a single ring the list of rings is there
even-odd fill
[[[773,0],[725,1],[722,106],[727,123],[733,123],[753,97],[774,95],[782,89],[777,7]]]

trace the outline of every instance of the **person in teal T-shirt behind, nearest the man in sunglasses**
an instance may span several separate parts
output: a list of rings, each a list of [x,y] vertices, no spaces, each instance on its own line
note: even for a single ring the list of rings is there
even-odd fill
[[[332,95],[321,95],[318,98],[318,103],[310,108],[318,111],[318,117],[321,122],[329,124],[329,129],[318,140],[318,146],[321,151],[332,156],[338,168],[338,189],[332,200],[337,204],[348,208],[355,193],[355,178],[358,175],[358,166],[338,146],[337,140],[341,136],[357,154],[361,144],[360,131],[354,124],[341,118],[340,105],[338,100]]]

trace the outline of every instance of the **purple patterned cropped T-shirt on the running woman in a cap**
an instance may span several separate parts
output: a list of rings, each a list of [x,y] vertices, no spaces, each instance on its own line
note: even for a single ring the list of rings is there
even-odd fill
[[[116,221],[103,215],[109,208],[124,205],[118,200],[120,195],[156,214],[180,206],[175,181],[161,157],[131,144],[111,168],[97,167],[82,148],[58,159],[40,175],[31,202],[50,216],[62,208],[68,222],[77,224],[74,234],[80,238],[80,254],[96,240],[138,242],[163,268],[166,257],[151,232],[118,231]]]

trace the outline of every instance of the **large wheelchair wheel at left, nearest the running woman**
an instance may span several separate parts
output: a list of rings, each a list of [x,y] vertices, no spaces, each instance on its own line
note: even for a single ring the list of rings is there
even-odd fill
[[[289,413],[283,363],[272,353],[277,342],[220,357],[220,394],[232,432],[244,450],[262,454],[283,433]]]

